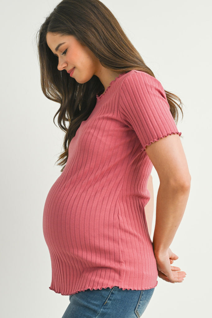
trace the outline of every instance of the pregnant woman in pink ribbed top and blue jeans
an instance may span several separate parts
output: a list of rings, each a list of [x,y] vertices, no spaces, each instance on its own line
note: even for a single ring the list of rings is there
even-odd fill
[[[61,1],[39,29],[38,52],[42,91],[59,103],[54,119],[65,132],[43,214],[49,288],[69,295],[63,318],[140,317],[158,276],[186,276],[169,248],[191,182],[176,126],[181,100],[98,0]],[[160,184],[151,240],[153,166]]]

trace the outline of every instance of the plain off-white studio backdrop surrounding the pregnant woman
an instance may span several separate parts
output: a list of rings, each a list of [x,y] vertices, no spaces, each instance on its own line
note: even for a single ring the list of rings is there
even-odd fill
[[[192,177],[171,248],[187,273],[161,279],[142,317],[208,317],[211,312],[211,1],[102,1],[164,89],[184,103],[177,124]],[[68,296],[49,289],[51,262],[42,232],[45,199],[60,175],[59,104],[41,91],[35,35],[55,0],[1,7],[1,316],[60,318]],[[57,122],[57,118],[56,121]],[[152,170],[154,201],[159,187]]]

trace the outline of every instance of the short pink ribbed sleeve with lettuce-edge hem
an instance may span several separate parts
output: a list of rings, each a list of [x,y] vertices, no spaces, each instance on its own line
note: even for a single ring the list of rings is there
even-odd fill
[[[136,132],[142,150],[165,136],[181,135],[163,86],[158,79],[143,71],[133,70],[124,79],[119,95],[119,113],[124,123]]]

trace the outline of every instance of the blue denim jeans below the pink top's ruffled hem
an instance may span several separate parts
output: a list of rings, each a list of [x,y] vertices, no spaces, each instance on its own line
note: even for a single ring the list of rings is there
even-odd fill
[[[154,289],[123,290],[117,286],[87,289],[69,296],[70,304],[62,318],[139,318]]]

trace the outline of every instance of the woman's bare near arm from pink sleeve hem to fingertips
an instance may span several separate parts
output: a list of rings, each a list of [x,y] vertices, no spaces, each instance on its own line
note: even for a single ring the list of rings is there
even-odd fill
[[[182,220],[190,192],[191,176],[186,156],[178,134],[153,142],[145,151],[160,180],[152,242],[158,276],[171,283],[182,282],[186,273],[171,266],[178,256],[169,246]]]

